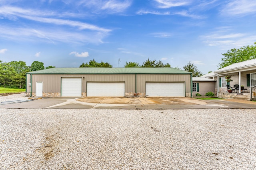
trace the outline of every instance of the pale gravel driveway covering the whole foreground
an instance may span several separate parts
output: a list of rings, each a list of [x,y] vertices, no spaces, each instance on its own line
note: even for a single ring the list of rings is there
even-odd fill
[[[0,109],[1,169],[255,169],[255,109]]]

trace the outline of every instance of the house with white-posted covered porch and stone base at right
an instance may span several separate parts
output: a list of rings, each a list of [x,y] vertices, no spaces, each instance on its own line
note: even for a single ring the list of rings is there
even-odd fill
[[[230,76],[232,81],[227,82],[226,76]],[[215,92],[219,98],[233,98],[243,94],[249,96],[250,88],[256,85],[256,59],[231,64],[201,77],[216,80]],[[234,88],[236,84],[238,88],[228,94],[226,85]],[[252,88],[252,93],[255,91],[255,87]]]

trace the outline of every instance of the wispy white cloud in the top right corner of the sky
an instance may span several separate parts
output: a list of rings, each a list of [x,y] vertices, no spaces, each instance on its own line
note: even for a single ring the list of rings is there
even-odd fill
[[[256,1],[255,0],[230,0],[228,4],[224,6],[221,13],[223,15],[230,16],[244,16],[248,14],[256,13]]]

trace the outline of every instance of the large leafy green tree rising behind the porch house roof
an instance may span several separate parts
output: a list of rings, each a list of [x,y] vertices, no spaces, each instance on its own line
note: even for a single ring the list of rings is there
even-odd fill
[[[240,49],[231,49],[227,53],[222,54],[222,63],[218,64],[218,69],[239,63],[246,60],[256,59],[256,42],[255,45],[244,46]]]

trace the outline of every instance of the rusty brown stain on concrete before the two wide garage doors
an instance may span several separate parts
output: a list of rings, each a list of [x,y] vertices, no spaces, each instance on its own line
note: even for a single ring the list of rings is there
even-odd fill
[[[133,105],[170,105],[185,104],[184,98],[155,97],[155,98],[125,98],[125,97],[84,97],[77,99],[80,102],[100,104],[133,104]]]

